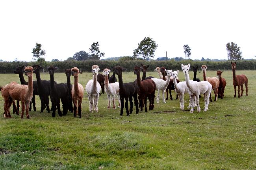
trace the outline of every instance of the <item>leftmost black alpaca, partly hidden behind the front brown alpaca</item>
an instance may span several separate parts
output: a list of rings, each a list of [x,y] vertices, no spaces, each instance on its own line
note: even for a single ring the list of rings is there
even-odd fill
[[[24,65],[22,65],[21,67],[16,67],[14,73],[19,74],[20,84],[28,85],[28,82],[25,81],[24,76],[23,76],[23,68],[24,67],[25,67]],[[31,111],[31,109],[32,109],[32,103],[33,103],[33,110],[34,110],[34,112],[36,111],[35,95],[39,95],[38,92],[37,92],[37,81],[33,81],[33,98],[32,98],[32,101],[30,101],[30,104],[29,104],[29,111]],[[18,111],[20,110],[19,101],[17,101],[17,110]]]

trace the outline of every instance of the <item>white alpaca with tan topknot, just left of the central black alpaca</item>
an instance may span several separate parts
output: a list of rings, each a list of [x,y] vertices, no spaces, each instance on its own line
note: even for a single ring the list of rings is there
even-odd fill
[[[109,83],[108,82],[109,72],[110,72],[109,69],[104,69],[104,71],[102,72],[103,75],[105,76],[105,92],[108,96],[108,109],[110,109],[111,97],[113,98],[112,99],[113,109],[115,109],[115,95],[117,95],[117,98],[118,98],[118,101],[119,101],[118,107],[120,107],[120,105],[121,105],[120,95],[119,95],[119,82]]]

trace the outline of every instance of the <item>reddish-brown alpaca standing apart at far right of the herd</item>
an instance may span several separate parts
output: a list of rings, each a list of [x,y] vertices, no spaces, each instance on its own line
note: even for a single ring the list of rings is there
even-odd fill
[[[238,98],[240,98],[240,96],[243,96],[243,84],[245,84],[246,96],[248,96],[248,78],[243,74],[236,76],[236,62],[233,63],[231,61],[231,67],[233,72],[233,85],[235,89],[234,97],[236,97],[236,86],[238,86]],[[242,90],[241,95],[240,95],[240,86]]]

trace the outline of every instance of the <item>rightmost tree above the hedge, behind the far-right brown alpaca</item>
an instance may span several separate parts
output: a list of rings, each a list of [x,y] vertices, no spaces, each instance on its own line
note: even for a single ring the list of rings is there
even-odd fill
[[[242,51],[240,47],[237,46],[234,42],[228,42],[226,45],[226,50],[228,51],[228,60],[242,60]]]

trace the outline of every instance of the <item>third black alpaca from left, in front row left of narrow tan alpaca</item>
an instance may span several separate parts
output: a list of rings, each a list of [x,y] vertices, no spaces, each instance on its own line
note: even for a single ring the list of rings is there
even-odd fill
[[[48,67],[48,72],[50,74],[50,84],[51,84],[51,92],[50,92],[50,97],[52,100],[52,117],[55,117],[55,111],[56,107],[58,110],[59,116],[64,116],[67,114],[68,111],[68,87],[67,84],[65,83],[58,83],[56,84],[54,81],[54,71],[56,71],[58,67]],[[61,114],[60,110],[60,100],[62,103],[62,108],[63,108],[63,114]]]

